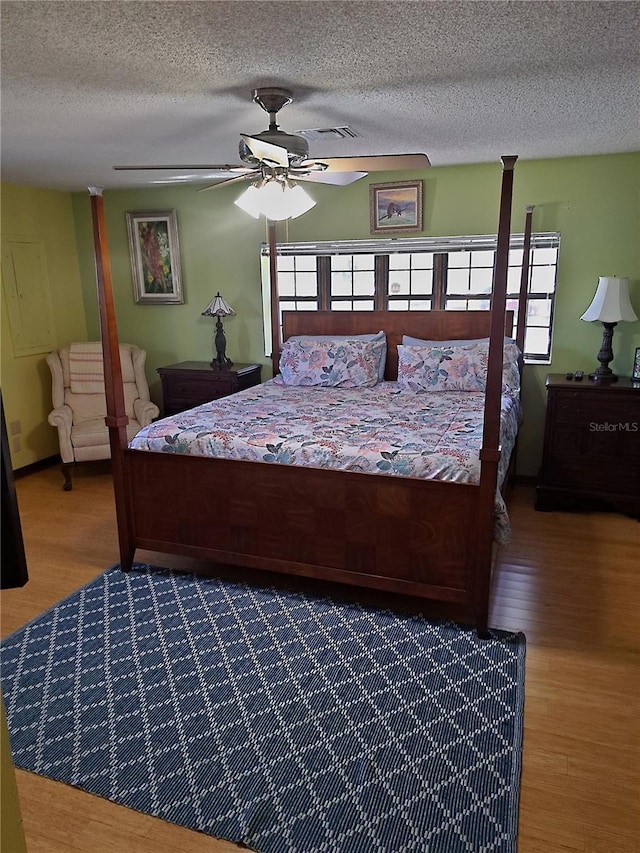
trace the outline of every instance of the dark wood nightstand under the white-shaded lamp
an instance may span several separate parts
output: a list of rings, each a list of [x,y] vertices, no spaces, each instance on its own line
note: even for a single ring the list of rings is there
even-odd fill
[[[640,385],[547,377],[536,509],[608,508],[640,518]]]

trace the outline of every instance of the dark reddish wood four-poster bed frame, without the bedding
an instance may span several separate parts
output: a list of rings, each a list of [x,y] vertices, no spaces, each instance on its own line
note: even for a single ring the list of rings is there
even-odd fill
[[[350,338],[383,329],[387,339],[385,379],[391,381],[397,378],[397,347],[403,335],[433,341],[488,338],[480,474],[474,483],[131,449],[102,198],[92,191],[106,423],[123,570],[131,567],[137,548],[201,557],[450,602],[464,608],[478,633],[486,634],[500,460],[503,342],[505,330],[511,333],[511,317],[505,308],[515,161],[515,157],[502,158],[490,312],[300,312],[284,316],[285,339],[296,335]],[[528,210],[529,232],[530,225]],[[274,292],[273,227],[270,242],[276,342],[280,318]],[[526,294],[524,270],[522,280]],[[517,341],[522,350],[524,310],[519,311],[518,320]],[[274,372],[278,356],[279,347],[274,345]]]

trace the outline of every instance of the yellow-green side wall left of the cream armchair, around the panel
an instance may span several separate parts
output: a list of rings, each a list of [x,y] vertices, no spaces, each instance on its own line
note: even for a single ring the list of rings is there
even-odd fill
[[[43,241],[53,308],[55,344],[87,339],[87,321],[80,287],[78,251],[71,194],[2,184],[2,234]],[[19,421],[11,436],[14,469],[58,452],[57,430],[47,423],[51,411],[51,374],[46,353],[17,356],[13,350],[4,286],[2,288],[1,383],[7,424]],[[19,445],[19,449],[18,449]]]

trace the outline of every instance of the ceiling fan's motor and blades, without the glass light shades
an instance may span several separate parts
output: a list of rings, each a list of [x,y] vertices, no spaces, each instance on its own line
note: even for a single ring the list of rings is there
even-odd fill
[[[157,165],[114,166],[116,170],[182,170],[215,171],[221,181],[205,189],[250,179],[286,179],[347,185],[360,180],[368,172],[402,169],[424,169],[430,165],[426,154],[379,154],[369,157],[309,157],[309,143],[298,134],[286,133],[277,124],[278,112],[290,104],[289,89],[268,86],[255,89],[253,100],[269,114],[269,127],[253,135],[240,134],[239,154],[242,165]]]

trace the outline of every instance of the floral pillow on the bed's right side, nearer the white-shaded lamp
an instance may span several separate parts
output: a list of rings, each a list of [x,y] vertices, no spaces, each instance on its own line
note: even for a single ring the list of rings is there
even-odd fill
[[[484,391],[481,371],[477,344],[398,346],[398,385],[407,391]]]

